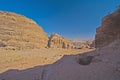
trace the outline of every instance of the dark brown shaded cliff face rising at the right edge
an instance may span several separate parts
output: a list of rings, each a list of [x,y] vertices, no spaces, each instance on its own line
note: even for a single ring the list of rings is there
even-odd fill
[[[102,25],[96,31],[95,47],[107,46],[116,39],[120,39],[120,9],[102,19]]]

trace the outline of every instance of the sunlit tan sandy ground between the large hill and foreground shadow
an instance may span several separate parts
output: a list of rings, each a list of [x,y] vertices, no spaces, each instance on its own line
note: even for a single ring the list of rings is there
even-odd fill
[[[34,49],[23,51],[0,50],[0,73],[9,69],[26,69],[52,64],[63,55],[75,55],[92,49]]]

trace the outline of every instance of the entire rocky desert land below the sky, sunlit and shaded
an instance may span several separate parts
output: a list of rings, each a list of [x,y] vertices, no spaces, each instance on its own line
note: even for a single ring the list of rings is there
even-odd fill
[[[1,15],[14,21],[13,13]],[[33,21],[30,24],[29,19],[21,17],[22,20],[15,19],[10,30],[5,28],[12,22],[0,24],[0,80],[120,80],[120,8],[105,16],[96,30],[95,40],[82,46],[81,42],[73,44],[58,34],[48,37]],[[0,21],[4,22],[4,18]],[[16,26],[19,22],[21,26]],[[29,36],[15,35],[19,33],[18,28],[26,32],[22,24],[31,25],[26,27],[31,31]],[[37,29],[40,32],[36,33]],[[7,33],[11,30],[12,33]],[[32,32],[43,35],[32,35]],[[8,36],[11,37],[6,40]]]

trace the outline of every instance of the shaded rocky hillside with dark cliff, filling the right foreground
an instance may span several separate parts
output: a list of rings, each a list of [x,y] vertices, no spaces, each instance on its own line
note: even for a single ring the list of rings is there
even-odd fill
[[[117,10],[103,19],[103,26],[97,29],[95,51],[64,56],[51,65],[9,70],[1,73],[0,79],[120,80],[119,14],[120,10]]]

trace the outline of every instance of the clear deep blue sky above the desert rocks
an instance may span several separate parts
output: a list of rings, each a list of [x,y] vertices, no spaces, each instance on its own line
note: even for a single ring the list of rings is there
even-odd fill
[[[33,19],[48,35],[89,39],[118,5],[120,0],[1,0],[0,10]]]

